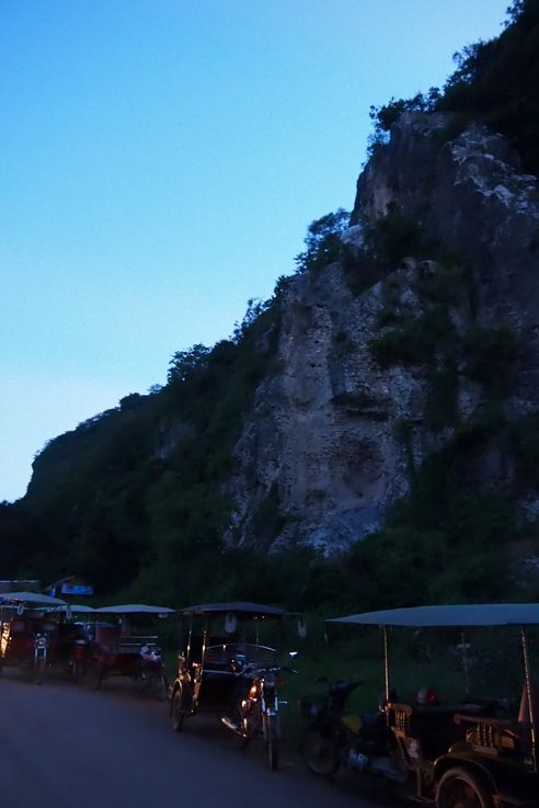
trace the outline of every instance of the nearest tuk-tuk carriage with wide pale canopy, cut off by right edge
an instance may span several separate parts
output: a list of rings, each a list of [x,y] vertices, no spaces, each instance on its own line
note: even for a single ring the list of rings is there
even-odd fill
[[[329,623],[377,625],[383,631],[383,709],[392,738],[386,772],[390,777],[400,769],[408,774],[414,798],[436,808],[539,808],[539,680],[532,679],[527,636],[529,626],[539,625],[539,604],[418,606],[349,615]],[[433,692],[424,693],[422,703],[401,702],[390,686],[388,656],[388,628],[398,626],[461,630],[515,626],[524,663],[518,713],[507,716],[500,709],[501,701],[468,694],[447,705]],[[466,649],[467,644],[462,641],[461,647]],[[515,664],[513,659],[506,663]],[[360,748],[359,738],[357,743]],[[379,761],[357,756],[363,771],[383,773]]]

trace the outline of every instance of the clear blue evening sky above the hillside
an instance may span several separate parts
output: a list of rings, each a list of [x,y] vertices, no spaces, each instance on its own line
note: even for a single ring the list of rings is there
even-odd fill
[[[440,86],[508,0],[3,0],[0,500],[165,380],[351,208],[370,104]]]

